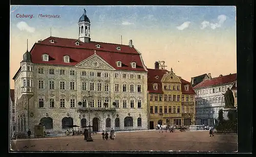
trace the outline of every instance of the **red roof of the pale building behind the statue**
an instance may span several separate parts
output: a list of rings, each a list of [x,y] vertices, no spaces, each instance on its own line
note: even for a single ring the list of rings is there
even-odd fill
[[[224,75],[224,76],[219,76],[219,77],[208,79],[208,80],[205,80],[205,81],[199,83],[197,86],[194,87],[194,89],[202,88],[202,87],[208,87],[208,86],[215,86],[215,85],[232,83],[236,79],[237,79],[237,73],[233,73],[233,74],[229,74],[229,75]]]

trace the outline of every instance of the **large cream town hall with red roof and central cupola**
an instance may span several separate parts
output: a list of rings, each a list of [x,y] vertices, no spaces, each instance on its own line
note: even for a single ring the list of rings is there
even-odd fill
[[[30,128],[33,135],[39,122],[51,133],[64,133],[68,125],[92,125],[94,132],[147,129],[147,69],[140,52],[132,40],[92,41],[90,29],[84,10],[78,39],[51,36],[26,51],[13,77],[17,132]]]

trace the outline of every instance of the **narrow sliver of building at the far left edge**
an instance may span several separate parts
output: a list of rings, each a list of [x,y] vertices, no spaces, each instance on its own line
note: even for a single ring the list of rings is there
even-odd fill
[[[15,96],[14,89],[10,89],[10,135],[13,135],[15,130]]]

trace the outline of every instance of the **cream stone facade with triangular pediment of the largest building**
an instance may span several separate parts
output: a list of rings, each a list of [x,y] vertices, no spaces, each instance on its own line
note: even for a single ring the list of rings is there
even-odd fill
[[[31,66],[30,71],[23,66]],[[60,74],[60,70],[64,73]],[[24,79],[31,80],[31,87],[24,86]],[[54,83],[54,85],[51,84],[53,89],[50,89],[50,82]],[[60,82],[64,82],[65,89],[60,89]],[[74,89],[71,87],[71,82],[74,83]],[[42,84],[43,87],[39,88],[41,86],[39,84]],[[85,84],[86,86],[84,86]],[[90,84],[94,85],[94,89],[90,89],[92,88]],[[101,84],[101,87],[98,87],[98,84]],[[105,91],[105,85],[108,85],[108,91]],[[123,92],[123,85],[126,85],[126,92]],[[140,86],[139,92],[138,85]],[[134,88],[132,92],[130,86]],[[28,92],[24,88],[31,89]],[[86,118],[88,125],[88,113],[77,112],[77,109],[80,108],[78,102],[83,99],[87,101],[88,90],[91,91],[91,99],[94,99],[94,108],[98,108],[98,100],[101,100],[99,108],[104,108],[103,103],[106,99],[109,99],[108,108],[113,108],[112,103],[119,101],[116,112],[91,112],[91,125],[93,118],[97,117],[99,120],[97,131],[115,128],[116,118],[119,118],[117,130],[147,129],[147,72],[115,70],[95,54],[76,66],[22,64],[22,69],[15,79],[15,92],[17,92],[15,100],[18,104],[15,115],[16,121],[18,121],[16,123],[18,132],[27,132],[28,128],[31,128],[33,135],[34,125],[37,125],[44,117],[52,118],[53,128],[47,129],[47,131],[56,134],[66,130],[66,128],[62,128],[61,124],[64,117],[72,117],[73,124],[78,126],[81,126],[81,119]],[[44,101],[43,107],[39,107],[39,99]],[[50,106],[50,99],[54,100],[54,107]],[[65,99],[65,107],[60,107],[60,99]],[[70,99],[75,100],[75,106],[71,107]],[[126,108],[123,108],[123,100],[126,100]],[[131,100],[134,102],[133,108],[131,108]],[[138,101],[141,102],[140,108],[138,108]],[[132,127],[124,127],[125,117],[133,118]],[[111,119],[110,128],[106,128],[106,118]],[[141,118],[141,126],[137,124],[138,118]]]

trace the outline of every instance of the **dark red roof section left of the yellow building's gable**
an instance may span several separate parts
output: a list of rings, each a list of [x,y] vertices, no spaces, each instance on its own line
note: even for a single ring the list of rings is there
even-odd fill
[[[161,80],[163,75],[168,72],[168,70],[163,69],[147,69],[147,91],[148,93],[158,93],[163,94]],[[156,79],[158,76],[158,79]],[[153,89],[153,84],[157,83],[157,90]]]

